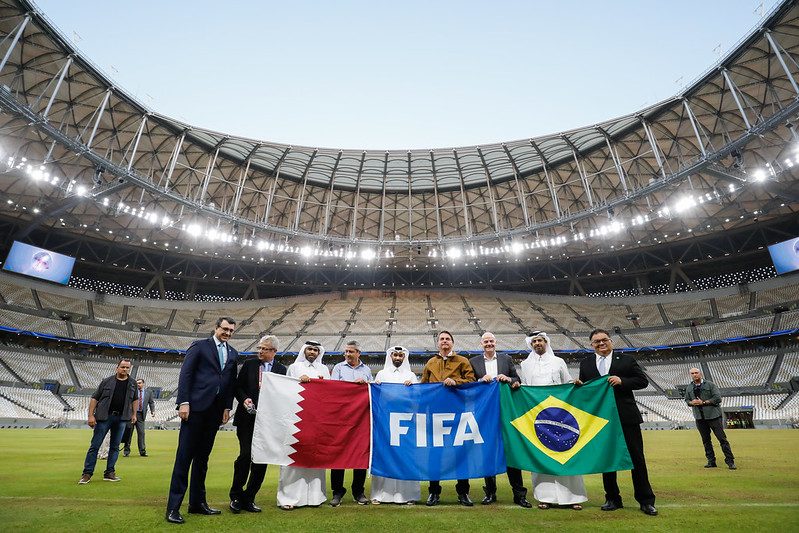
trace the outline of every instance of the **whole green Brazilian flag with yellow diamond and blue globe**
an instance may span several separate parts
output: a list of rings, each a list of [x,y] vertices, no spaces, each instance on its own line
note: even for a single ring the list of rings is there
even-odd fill
[[[508,466],[556,476],[633,466],[613,389],[604,379],[516,390],[503,384],[500,403]]]

